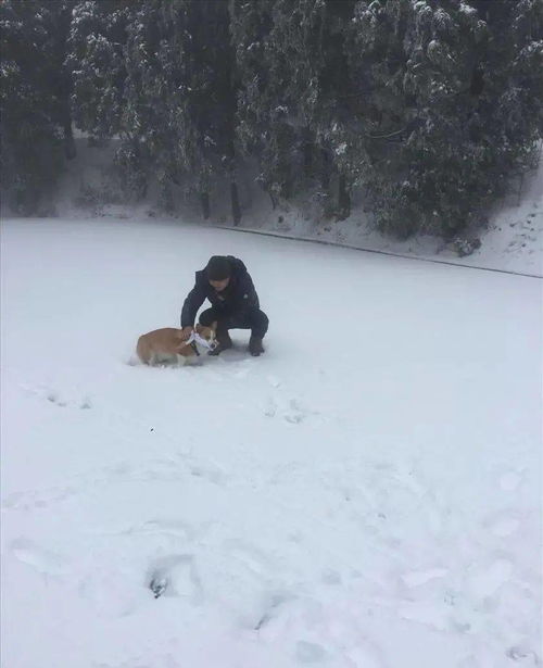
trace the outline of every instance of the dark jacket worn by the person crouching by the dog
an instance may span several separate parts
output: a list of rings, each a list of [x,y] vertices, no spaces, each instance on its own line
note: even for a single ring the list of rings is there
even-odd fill
[[[210,285],[205,269],[197,272],[194,287],[182,305],[181,327],[194,324],[198,310],[205,299],[209,299],[212,305],[225,316],[242,318],[247,311],[260,308],[258,295],[245,265],[232,255],[228,255],[228,260],[231,264],[230,282],[223,292],[217,292]]]

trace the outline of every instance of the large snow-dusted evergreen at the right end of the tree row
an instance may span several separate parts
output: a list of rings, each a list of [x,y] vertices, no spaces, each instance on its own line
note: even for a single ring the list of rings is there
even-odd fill
[[[387,231],[446,237],[477,222],[541,133],[541,2],[491,4],[356,5],[349,56],[368,91],[358,179]]]

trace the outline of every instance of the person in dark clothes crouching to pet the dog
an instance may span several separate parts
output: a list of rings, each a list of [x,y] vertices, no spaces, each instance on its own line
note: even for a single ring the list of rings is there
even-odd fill
[[[262,340],[268,329],[268,317],[261,311],[258,295],[245,265],[232,255],[214,255],[207,266],[195,274],[195,283],[187,295],[181,312],[182,338],[188,340],[198,310],[205,299],[211,308],[200,314],[200,324],[210,327],[217,323],[218,345],[210,355],[219,355],[231,348],[229,329],[250,329],[249,352],[258,356],[264,352]]]

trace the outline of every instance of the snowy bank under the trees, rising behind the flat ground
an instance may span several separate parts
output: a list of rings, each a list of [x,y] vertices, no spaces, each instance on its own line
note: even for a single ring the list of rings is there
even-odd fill
[[[115,142],[105,148],[92,148],[79,134],[76,144],[77,157],[70,162],[58,191],[51,193],[51,201],[43,203],[42,215],[113,220],[167,218],[163,211],[157,210],[156,184],[152,179],[146,201],[121,203],[125,196],[118,190],[118,176],[113,168]],[[382,236],[374,229],[371,216],[365,211],[361,192],[356,190],[352,215],[346,220],[325,220],[320,209],[307,198],[295,203],[282,202],[274,210],[267,193],[255,185],[256,174],[247,167],[238,176],[243,210],[241,229],[543,276],[543,160],[526,175],[520,192],[504,197],[495,210],[489,212],[485,229],[466,232],[467,237],[479,236],[481,239],[481,247],[467,257],[458,257],[451,244],[437,237],[420,235],[400,241]],[[516,190],[518,186],[514,179],[512,189]],[[188,197],[181,188],[173,188],[177,209],[172,216],[201,225],[199,198]],[[229,181],[215,184],[211,202],[209,223],[220,227],[231,224]]]

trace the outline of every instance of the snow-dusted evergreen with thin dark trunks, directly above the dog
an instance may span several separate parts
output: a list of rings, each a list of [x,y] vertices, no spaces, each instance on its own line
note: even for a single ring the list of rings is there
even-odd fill
[[[143,134],[165,187],[168,180],[191,182],[207,218],[213,179],[227,174],[232,217],[238,223],[236,93],[228,24],[226,3],[147,3],[128,42],[134,68],[127,99],[130,122]]]

